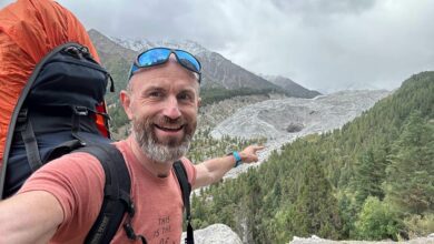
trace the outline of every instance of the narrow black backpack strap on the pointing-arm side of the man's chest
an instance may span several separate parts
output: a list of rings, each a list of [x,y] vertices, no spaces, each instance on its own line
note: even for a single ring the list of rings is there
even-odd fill
[[[191,213],[190,213],[190,193],[191,184],[188,182],[187,171],[180,160],[174,163],[174,170],[176,177],[178,179],[179,186],[183,193],[183,202],[186,209],[186,218],[187,218],[187,237],[185,240],[186,244],[193,244],[193,226],[191,226]]]

